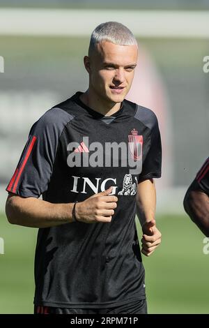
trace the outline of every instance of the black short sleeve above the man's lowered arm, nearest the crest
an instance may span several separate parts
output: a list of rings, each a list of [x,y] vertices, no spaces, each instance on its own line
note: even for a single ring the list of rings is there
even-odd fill
[[[149,148],[146,157],[143,158],[142,170],[139,175],[139,182],[151,178],[161,177],[162,167],[162,145],[160,130],[157,122],[157,117],[152,114],[152,126],[150,129]]]

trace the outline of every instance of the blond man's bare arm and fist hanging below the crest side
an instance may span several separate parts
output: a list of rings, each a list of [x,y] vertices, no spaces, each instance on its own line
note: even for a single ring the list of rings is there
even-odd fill
[[[143,236],[141,253],[151,255],[161,243],[161,233],[155,225],[156,192],[153,179],[142,181],[137,187],[137,216]]]

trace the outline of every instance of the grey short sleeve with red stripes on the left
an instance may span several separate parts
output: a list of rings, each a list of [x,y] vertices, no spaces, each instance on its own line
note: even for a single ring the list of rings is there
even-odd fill
[[[64,126],[72,119],[60,108],[48,110],[35,124],[6,191],[22,197],[40,197],[52,176],[56,149]]]

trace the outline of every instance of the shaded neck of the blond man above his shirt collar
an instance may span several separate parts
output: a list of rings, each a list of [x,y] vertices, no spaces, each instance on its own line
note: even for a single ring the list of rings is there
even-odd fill
[[[111,101],[108,103],[106,99],[99,98],[89,89],[80,96],[80,99],[86,106],[104,116],[110,116],[118,112],[118,110],[121,108],[121,103],[114,103]]]

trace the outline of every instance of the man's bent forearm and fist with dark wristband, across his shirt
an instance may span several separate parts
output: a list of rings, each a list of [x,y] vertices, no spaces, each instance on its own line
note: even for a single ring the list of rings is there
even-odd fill
[[[84,223],[110,222],[117,207],[117,197],[109,195],[112,187],[77,203],[75,216]],[[47,228],[74,222],[74,203],[53,204],[35,197],[20,197],[13,193],[6,201],[6,216],[12,224],[33,228]]]

